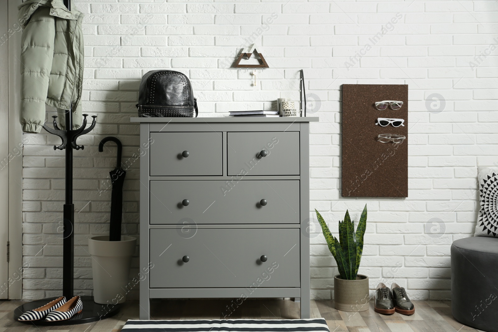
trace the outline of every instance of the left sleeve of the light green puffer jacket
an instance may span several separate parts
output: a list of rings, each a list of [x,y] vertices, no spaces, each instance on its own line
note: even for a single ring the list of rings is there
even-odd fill
[[[45,122],[45,101],[54,55],[55,22],[49,7],[39,7],[21,38],[22,131],[38,133]]]

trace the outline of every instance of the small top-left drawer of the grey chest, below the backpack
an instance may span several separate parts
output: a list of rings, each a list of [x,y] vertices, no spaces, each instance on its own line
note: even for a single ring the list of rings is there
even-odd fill
[[[222,137],[221,132],[150,133],[150,175],[222,175]]]

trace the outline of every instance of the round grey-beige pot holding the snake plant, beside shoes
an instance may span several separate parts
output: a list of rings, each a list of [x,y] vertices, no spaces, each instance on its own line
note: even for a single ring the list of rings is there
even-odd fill
[[[369,277],[359,274],[356,280],[334,277],[334,304],[337,310],[358,312],[369,310]]]

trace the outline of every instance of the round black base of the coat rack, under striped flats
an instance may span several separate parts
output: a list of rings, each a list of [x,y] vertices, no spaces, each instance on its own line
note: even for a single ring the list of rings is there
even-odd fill
[[[14,320],[16,322],[19,322],[17,321],[17,319],[26,311],[44,306],[50,301],[55,300],[56,298],[57,297],[35,300],[20,305],[14,310]],[[73,316],[73,318],[69,320],[57,321],[57,322],[33,321],[33,322],[19,322],[19,323],[35,325],[35,326],[63,326],[63,325],[87,324],[112,317],[118,314],[121,309],[121,304],[107,305],[107,304],[95,303],[92,296],[82,296],[81,300],[83,301],[83,312],[81,314]]]

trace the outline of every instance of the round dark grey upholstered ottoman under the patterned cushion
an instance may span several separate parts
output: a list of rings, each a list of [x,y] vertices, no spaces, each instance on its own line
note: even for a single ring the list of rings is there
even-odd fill
[[[498,332],[498,238],[468,237],[451,245],[451,312],[462,324]]]

